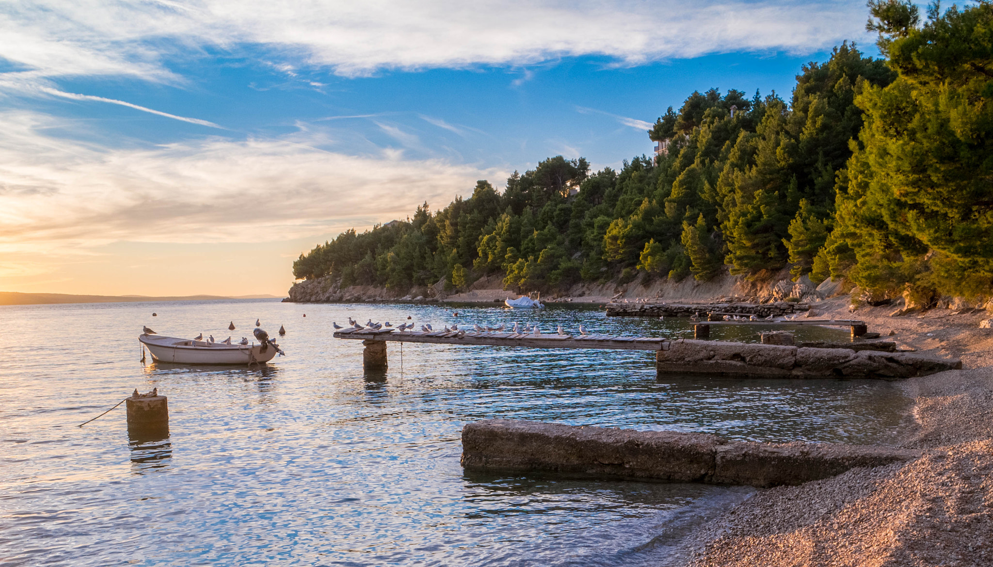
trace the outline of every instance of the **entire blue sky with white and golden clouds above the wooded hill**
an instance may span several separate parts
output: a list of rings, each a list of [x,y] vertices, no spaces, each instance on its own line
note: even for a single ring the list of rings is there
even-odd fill
[[[860,1],[0,3],[0,291],[285,295],[348,228],[621,167],[693,90],[788,99]]]

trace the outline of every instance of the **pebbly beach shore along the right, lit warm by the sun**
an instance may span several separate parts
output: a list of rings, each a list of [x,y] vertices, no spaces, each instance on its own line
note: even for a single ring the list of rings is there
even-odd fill
[[[978,328],[990,316],[935,309],[890,317],[894,310],[849,313],[847,297],[813,309],[865,320],[922,353],[962,358],[962,370],[901,382],[917,404],[889,445],[924,456],[760,491],[701,527],[672,564],[993,565],[993,330]]]

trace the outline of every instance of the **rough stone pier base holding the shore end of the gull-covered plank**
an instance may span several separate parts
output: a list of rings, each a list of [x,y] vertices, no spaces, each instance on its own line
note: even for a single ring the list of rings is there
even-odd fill
[[[809,378],[899,379],[962,367],[925,354],[679,340],[655,354],[659,372]]]

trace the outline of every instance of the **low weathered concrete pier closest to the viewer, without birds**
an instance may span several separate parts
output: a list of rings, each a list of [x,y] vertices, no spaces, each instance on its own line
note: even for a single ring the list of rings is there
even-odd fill
[[[891,447],[736,442],[702,433],[506,419],[469,423],[462,429],[462,466],[470,471],[759,488],[799,485],[920,455]]]

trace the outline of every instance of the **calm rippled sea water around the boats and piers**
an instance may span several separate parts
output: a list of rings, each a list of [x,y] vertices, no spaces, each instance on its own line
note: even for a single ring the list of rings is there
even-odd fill
[[[152,317],[152,312],[158,317]],[[458,311],[459,316],[453,315]],[[304,317],[306,314],[306,317]],[[491,417],[872,443],[911,400],[860,380],[656,380],[652,354],[389,346],[365,375],[331,323],[514,320],[679,336],[685,320],[600,311],[269,300],[0,307],[0,563],[5,565],[659,565],[750,489],[468,475],[463,424]],[[140,361],[137,335],[250,337],[266,368]],[[229,321],[237,330],[227,331]],[[714,327],[714,339],[756,329]],[[800,328],[799,337],[844,337]],[[128,438],[131,390],[169,396],[171,436]]]

